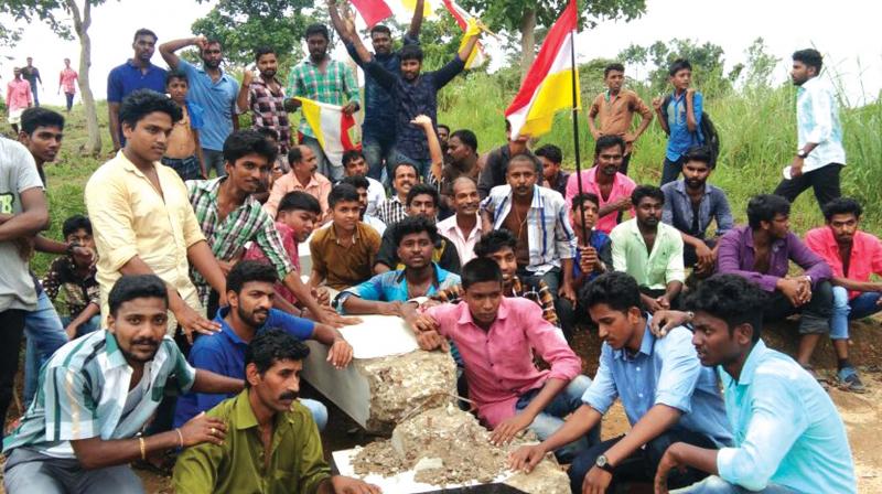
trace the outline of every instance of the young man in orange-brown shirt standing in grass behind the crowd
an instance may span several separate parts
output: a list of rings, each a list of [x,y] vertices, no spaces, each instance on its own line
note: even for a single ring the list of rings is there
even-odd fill
[[[606,65],[603,69],[603,84],[606,90],[599,94],[588,110],[588,129],[596,141],[601,136],[619,136],[625,141],[622,167],[619,170],[627,175],[627,165],[634,152],[634,142],[653,121],[653,110],[631,89],[623,89],[625,84],[625,66],[620,63]],[[632,133],[634,114],[641,114],[637,130]],[[594,122],[598,119],[598,122]]]

